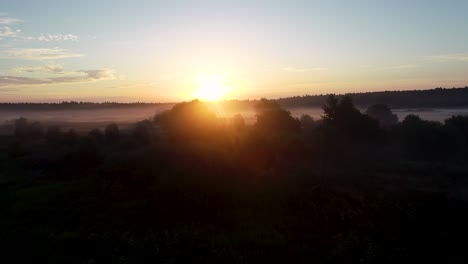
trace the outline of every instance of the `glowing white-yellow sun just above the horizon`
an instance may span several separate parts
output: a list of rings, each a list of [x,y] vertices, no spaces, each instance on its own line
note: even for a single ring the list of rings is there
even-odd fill
[[[201,100],[220,100],[230,90],[224,77],[218,74],[201,75],[198,76],[197,80],[198,90],[193,95]]]

